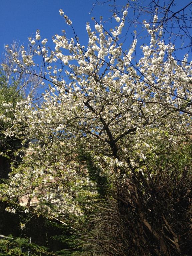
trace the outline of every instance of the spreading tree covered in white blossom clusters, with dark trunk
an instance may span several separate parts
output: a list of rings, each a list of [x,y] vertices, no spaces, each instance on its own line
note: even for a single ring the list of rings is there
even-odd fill
[[[59,13],[73,29],[68,16],[62,10]],[[155,26],[157,15],[152,24],[144,21],[150,43],[141,46],[138,60],[137,40],[128,50],[122,43],[127,13],[125,9],[121,19],[114,14],[117,27],[110,32],[97,22],[92,31],[87,23],[87,47],[75,34],[71,39],[62,34],[54,36],[55,50],[50,50],[37,31],[35,39],[29,38],[30,55],[23,49],[19,60],[13,53],[17,72],[41,78],[49,89],[41,104],[30,95],[17,104],[5,135],[14,135],[23,144],[35,142],[29,143],[19,166],[13,166],[10,185],[2,190],[11,199],[27,195],[28,208],[36,207],[62,222],[66,216],[81,216],[98,198],[97,184],[79,157],[80,152],[89,154],[99,176],[114,184],[119,212],[129,204],[138,211],[141,242],[150,244],[149,235],[155,241],[154,255],[172,255],[171,250],[180,253],[179,236],[163,213],[165,235],[150,223],[144,209],[152,211],[146,206],[151,192],[142,192],[146,200],[142,201],[139,191],[145,191],[142,182],[152,191],[152,177],[155,173],[159,177],[160,166],[166,170],[164,177],[174,173],[167,162],[175,161],[181,169],[190,163],[190,146],[185,143],[191,134],[192,68],[188,55],[181,63],[174,59],[174,44],[165,44],[161,27]],[[186,154],[178,161],[184,147]],[[38,199],[35,206],[31,204],[34,197]],[[131,243],[137,245],[134,239]]]

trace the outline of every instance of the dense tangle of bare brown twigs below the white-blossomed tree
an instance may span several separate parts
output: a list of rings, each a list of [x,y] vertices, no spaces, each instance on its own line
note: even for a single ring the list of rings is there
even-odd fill
[[[191,180],[190,168],[167,164],[118,183],[118,204],[92,219],[89,255],[190,255]]]

